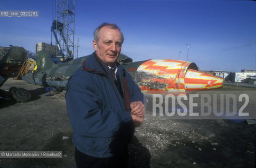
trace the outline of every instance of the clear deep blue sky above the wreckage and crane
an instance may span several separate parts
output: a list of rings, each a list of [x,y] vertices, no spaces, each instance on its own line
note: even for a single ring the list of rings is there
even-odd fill
[[[0,17],[0,46],[35,52],[35,44],[50,44],[55,8],[55,0],[0,0],[0,10],[39,10],[39,17]],[[134,61],[188,57],[200,70],[256,69],[254,1],[76,0],[79,57],[94,51],[93,31],[103,22],[120,27],[121,52]]]

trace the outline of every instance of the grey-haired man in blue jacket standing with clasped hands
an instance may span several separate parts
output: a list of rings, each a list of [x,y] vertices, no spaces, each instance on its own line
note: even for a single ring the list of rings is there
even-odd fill
[[[140,88],[119,65],[124,41],[115,24],[94,31],[95,52],[68,83],[67,110],[73,128],[77,167],[127,167],[127,145],[143,122]]]

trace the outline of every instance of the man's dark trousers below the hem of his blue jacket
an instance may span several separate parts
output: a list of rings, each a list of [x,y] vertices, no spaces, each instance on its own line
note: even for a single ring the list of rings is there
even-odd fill
[[[125,150],[121,154],[111,156],[109,158],[96,158],[87,154],[80,152],[75,148],[74,159],[77,164],[77,168],[115,168],[115,167],[128,167],[128,150]]]

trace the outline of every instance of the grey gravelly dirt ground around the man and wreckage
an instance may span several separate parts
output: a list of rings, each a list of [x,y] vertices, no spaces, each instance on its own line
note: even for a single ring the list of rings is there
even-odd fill
[[[0,99],[0,151],[62,151],[63,157],[0,158],[0,167],[75,167],[64,93],[51,91],[53,96],[45,96],[48,93],[43,87],[13,79],[1,89],[13,86],[30,90],[32,101]],[[255,103],[249,105],[255,112]],[[144,123],[129,145],[129,167],[255,166],[255,124],[244,120],[171,120],[152,116],[150,106],[149,102]],[[69,138],[63,140],[64,136]]]

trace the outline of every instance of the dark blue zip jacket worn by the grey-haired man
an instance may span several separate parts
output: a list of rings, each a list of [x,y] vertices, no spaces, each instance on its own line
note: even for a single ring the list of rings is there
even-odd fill
[[[69,79],[66,102],[76,148],[107,158],[127,148],[134,133],[129,103],[143,102],[143,93],[124,67],[117,65],[121,96],[96,57],[88,56]]]

